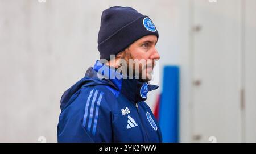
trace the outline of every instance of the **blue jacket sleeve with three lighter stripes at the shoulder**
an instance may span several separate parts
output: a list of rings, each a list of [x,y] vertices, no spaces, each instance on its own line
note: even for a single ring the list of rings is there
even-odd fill
[[[106,90],[84,87],[61,112],[58,142],[112,142],[112,114]]]

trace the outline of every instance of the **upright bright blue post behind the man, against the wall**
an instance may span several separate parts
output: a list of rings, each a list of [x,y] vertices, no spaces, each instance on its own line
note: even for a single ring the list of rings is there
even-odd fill
[[[179,67],[165,66],[159,124],[163,142],[179,142]]]

